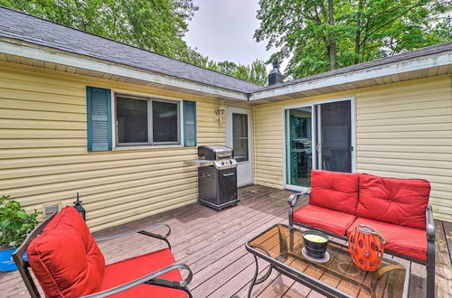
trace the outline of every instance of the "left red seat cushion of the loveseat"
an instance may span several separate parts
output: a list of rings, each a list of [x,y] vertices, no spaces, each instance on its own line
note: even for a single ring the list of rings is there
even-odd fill
[[[356,217],[352,214],[306,205],[294,211],[293,219],[314,228],[345,236]]]

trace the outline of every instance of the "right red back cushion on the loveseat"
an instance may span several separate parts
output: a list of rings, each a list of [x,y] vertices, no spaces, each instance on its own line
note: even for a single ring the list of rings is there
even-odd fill
[[[356,215],[410,228],[426,228],[425,210],[430,183],[420,179],[360,177],[360,202]]]

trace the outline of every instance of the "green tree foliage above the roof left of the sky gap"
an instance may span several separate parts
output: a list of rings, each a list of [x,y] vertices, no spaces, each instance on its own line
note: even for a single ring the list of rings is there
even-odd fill
[[[127,43],[140,49],[264,85],[265,66],[215,62],[187,46],[187,22],[198,7],[193,0],[0,0],[5,5],[55,23]],[[231,69],[225,66],[231,63]]]

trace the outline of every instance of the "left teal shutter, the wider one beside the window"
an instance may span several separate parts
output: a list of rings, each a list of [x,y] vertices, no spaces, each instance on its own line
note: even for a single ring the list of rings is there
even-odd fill
[[[88,151],[111,150],[111,91],[87,87]]]

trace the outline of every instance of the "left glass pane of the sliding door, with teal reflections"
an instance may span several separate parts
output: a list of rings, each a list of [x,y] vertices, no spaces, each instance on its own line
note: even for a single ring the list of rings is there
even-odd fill
[[[287,184],[311,185],[312,107],[286,111]]]

